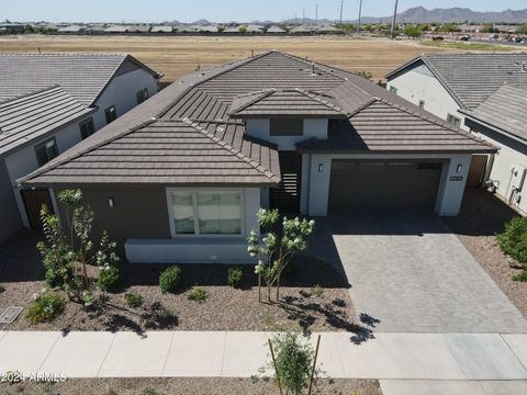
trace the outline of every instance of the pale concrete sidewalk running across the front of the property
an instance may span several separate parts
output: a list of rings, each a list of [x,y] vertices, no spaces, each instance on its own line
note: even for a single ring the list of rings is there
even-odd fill
[[[0,372],[64,373],[68,377],[249,377],[267,361],[268,336],[4,331],[0,332]],[[527,334],[375,334],[375,339],[361,345],[350,341],[350,336],[322,334],[318,361],[334,379],[388,380],[383,385],[394,388],[397,385],[392,380],[527,381]]]

